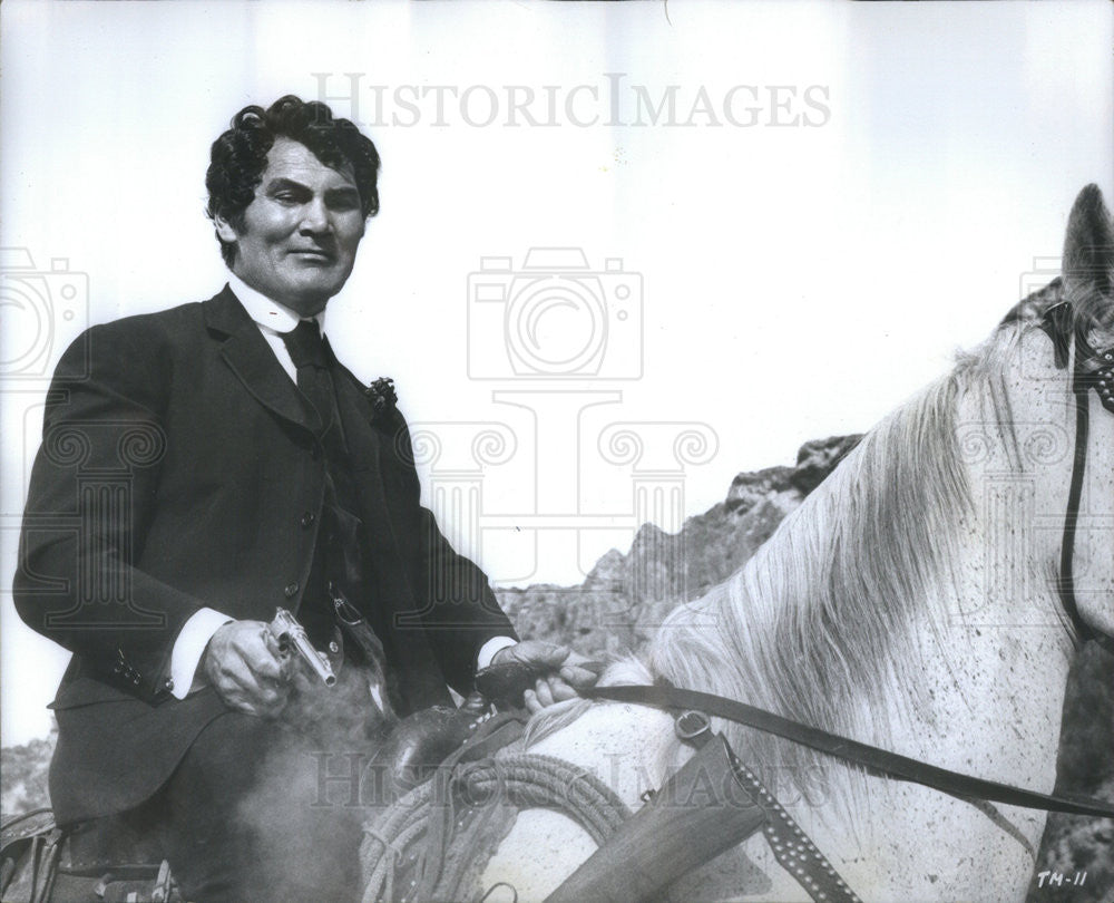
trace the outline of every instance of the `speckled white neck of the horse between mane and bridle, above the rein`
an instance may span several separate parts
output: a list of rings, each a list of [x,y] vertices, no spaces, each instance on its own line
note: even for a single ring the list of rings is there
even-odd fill
[[[1000,379],[974,379],[956,399],[969,505],[934,598],[896,601],[917,612],[919,660],[886,701],[898,751],[1040,787],[1072,651],[1054,580],[1074,433],[1063,373],[1034,363],[1051,358],[1046,343],[1024,337]]]

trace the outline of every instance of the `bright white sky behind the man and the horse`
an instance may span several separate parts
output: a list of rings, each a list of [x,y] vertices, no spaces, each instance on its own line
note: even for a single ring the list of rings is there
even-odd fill
[[[204,172],[240,107],[323,84],[375,139],[382,213],[333,343],[441,439],[427,499],[473,499],[443,524],[463,551],[496,582],[571,583],[644,515],[675,528],[739,470],[866,429],[1047,280],[1026,274],[1075,193],[1112,193],[1112,9],[7,0],[0,244],[33,269],[0,270],[3,744],[46,731],[66,658],[10,594],[40,373],[86,323],[221,288]],[[535,309],[534,350],[505,319],[531,247],[622,260],[566,280],[584,308]],[[508,300],[485,304],[469,274],[500,256],[479,281]],[[588,346],[595,378],[553,363]],[[678,464],[685,425],[710,445]],[[487,427],[510,444],[480,469]],[[600,452],[619,429],[635,464]],[[644,485],[675,503],[636,509]]]

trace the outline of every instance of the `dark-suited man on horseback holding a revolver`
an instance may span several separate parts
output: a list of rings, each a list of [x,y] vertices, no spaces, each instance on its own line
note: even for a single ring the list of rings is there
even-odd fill
[[[351,894],[359,831],[322,802],[322,754],[370,756],[495,661],[545,674],[534,708],[594,680],[518,642],[419,506],[390,380],[360,385],[322,337],[379,166],[323,104],[241,110],[206,178],[228,284],[89,330],[48,399],[14,600],[74,652],[52,804],[157,836],[188,900]],[[278,608],[338,687],[292,671]]]

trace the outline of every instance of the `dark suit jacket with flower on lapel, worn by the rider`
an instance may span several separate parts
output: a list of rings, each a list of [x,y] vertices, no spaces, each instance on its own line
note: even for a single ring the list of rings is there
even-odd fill
[[[404,709],[467,692],[479,648],[514,635],[483,574],[420,507],[402,416],[356,379],[338,405],[367,526],[365,570]],[[53,702],[61,823],[130,808],[224,706],[169,693],[169,659],[202,606],[296,615],[325,486],[312,415],[236,297],[95,327],[47,401],[14,582],[35,630],[71,650]],[[404,712],[403,712],[404,713]]]

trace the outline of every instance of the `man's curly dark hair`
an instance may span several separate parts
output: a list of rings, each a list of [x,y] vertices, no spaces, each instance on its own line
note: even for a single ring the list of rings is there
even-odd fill
[[[232,117],[232,127],[213,142],[205,187],[209,200],[206,213],[221,216],[236,232],[245,229],[244,211],[255,197],[267,166],[267,152],[275,138],[285,137],[304,144],[325,166],[340,168],[351,164],[365,217],[379,213],[379,152],[371,138],[349,119],[333,117],[333,111],[316,100],[305,103],[292,94],[280,97],[267,109],[244,107]],[[221,256],[232,266],[236,258],[234,242],[221,242]]]

